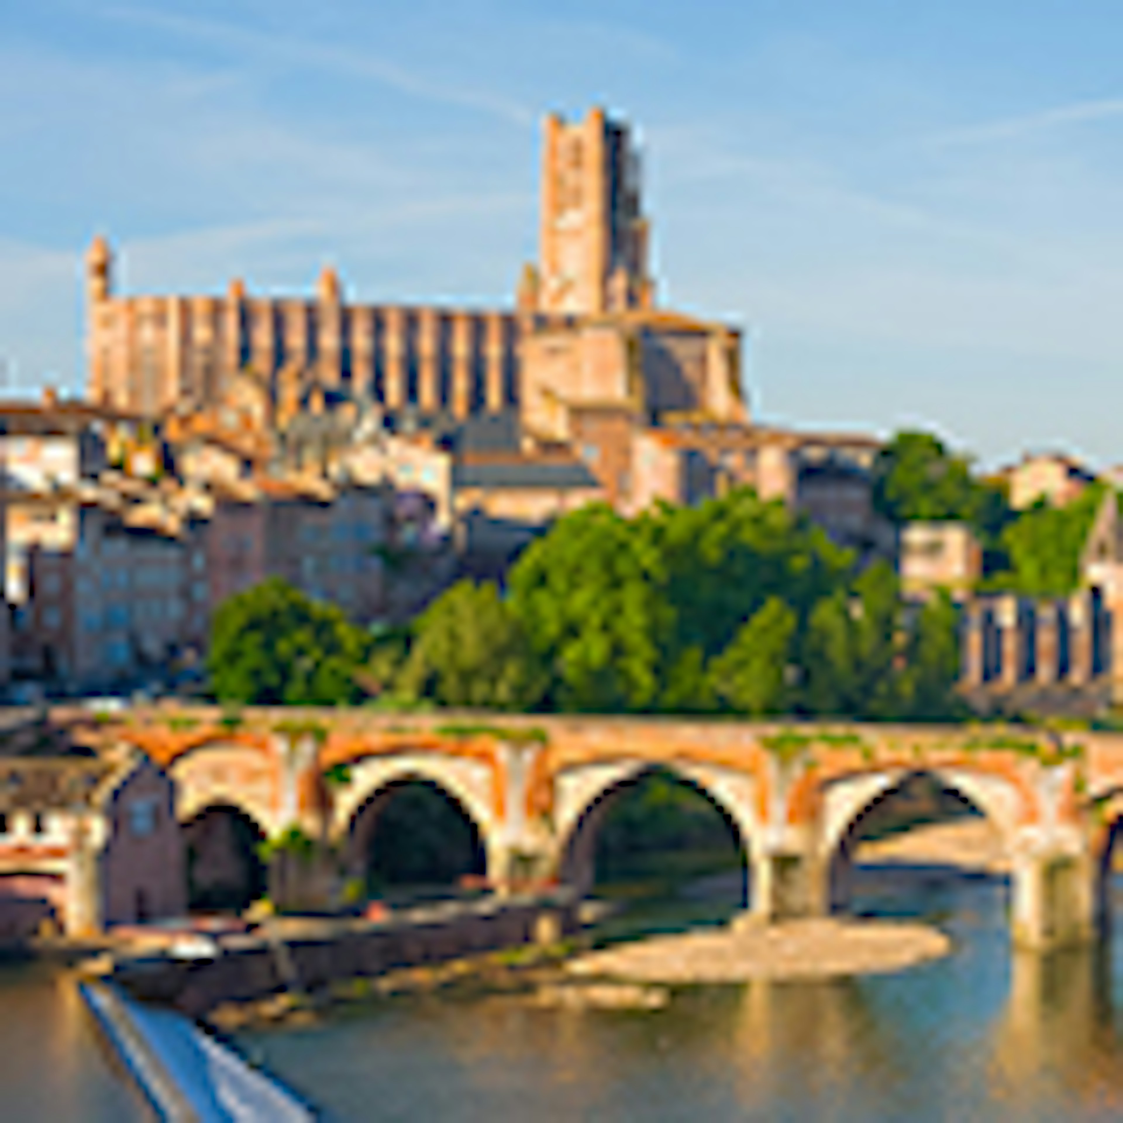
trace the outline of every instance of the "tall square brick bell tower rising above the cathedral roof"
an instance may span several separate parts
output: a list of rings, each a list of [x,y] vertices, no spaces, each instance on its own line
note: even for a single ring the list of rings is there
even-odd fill
[[[639,156],[628,127],[603,109],[573,124],[546,118],[540,223],[537,311],[597,316],[650,307]]]

